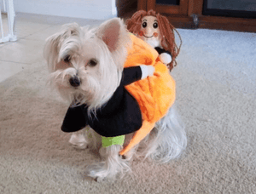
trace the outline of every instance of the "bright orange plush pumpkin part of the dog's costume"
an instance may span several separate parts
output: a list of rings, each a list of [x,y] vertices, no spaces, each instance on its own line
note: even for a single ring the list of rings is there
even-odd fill
[[[175,81],[168,68],[160,62],[159,54],[148,43],[131,34],[132,46],[128,48],[125,67],[154,66],[154,76],[131,83],[125,88],[137,100],[143,115],[143,126],[135,132],[128,145],[120,151],[125,155],[143,140],[154,128],[154,124],[164,117],[175,100]]]

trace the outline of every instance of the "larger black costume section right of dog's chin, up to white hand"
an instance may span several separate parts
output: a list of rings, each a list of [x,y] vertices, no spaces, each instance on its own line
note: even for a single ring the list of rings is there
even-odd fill
[[[90,127],[97,134],[115,137],[131,134],[142,127],[143,117],[137,100],[125,89],[125,85],[136,82],[141,77],[140,66],[124,69],[121,83],[111,99],[96,111],[96,117],[88,119]],[[84,116],[87,117],[85,114]]]

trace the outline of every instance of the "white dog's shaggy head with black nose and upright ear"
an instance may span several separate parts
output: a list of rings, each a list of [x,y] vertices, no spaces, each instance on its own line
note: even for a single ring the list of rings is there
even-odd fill
[[[66,25],[47,39],[44,48],[50,83],[64,99],[96,109],[119,86],[130,44],[119,19],[108,20],[95,29]]]

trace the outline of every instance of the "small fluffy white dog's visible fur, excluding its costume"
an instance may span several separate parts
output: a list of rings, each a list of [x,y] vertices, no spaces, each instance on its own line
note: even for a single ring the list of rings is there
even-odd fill
[[[76,108],[86,105],[88,117],[97,117],[96,112],[108,103],[121,83],[127,48],[131,40],[122,20],[113,19],[94,29],[80,27],[77,24],[63,26],[62,31],[49,37],[44,48],[50,83],[61,96]],[[153,66],[139,66],[141,79],[152,76]],[[101,135],[88,123],[80,122],[71,114],[74,128],[85,126],[73,133],[70,143],[79,147],[101,146]],[[69,123],[68,123],[69,124]],[[71,126],[72,128],[72,126]],[[74,130],[76,131],[76,130]],[[72,132],[72,131],[70,131]],[[125,144],[132,133],[125,135]],[[158,123],[154,130],[143,140],[146,145],[143,152],[146,157],[166,163],[180,155],[187,145],[182,123],[173,106]],[[88,175],[95,179],[111,177],[129,170],[129,161],[137,146],[125,157],[119,156],[121,145],[101,147],[101,163],[90,165]]]

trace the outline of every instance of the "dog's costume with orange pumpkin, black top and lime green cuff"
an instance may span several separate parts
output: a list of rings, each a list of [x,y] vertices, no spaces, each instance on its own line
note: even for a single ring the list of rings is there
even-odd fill
[[[113,107],[113,103],[120,104],[120,107],[117,106],[114,108],[114,110],[120,109],[120,112],[116,111],[118,113],[113,114],[113,117],[109,120],[108,118],[90,119],[87,114],[86,105],[81,105],[69,107],[61,126],[61,130],[64,132],[75,132],[84,128],[87,124],[91,125],[91,128],[94,128],[96,133],[102,135],[102,147],[124,145],[125,134],[137,130],[134,132],[135,134],[129,144],[119,152],[121,155],[125,155],[127,151],[130,151],[133,146],[137,145],[150,133],[154,128],[154,124],[166,115],[175,100],[175,82],[170,76],[166,65],[160,62],[157,51],[142,39],[132,34],[130,34],[130,37],[132,46],[131,48],[127,48],[128,55],[124,67],[140,65],[154,66],[154,76],[138,80],[125,86],[120,83],[119,87],[121,88],[119,88],[119,90],[117,89],[117,91],[121,93],[123,91],[122,89],[124,89],[123,87],[125,87],[134,99],[130,94],[127,94],[125,103],[128,104],[123,105],[118,102],[118,100],[122,99],[113,101],[113,99],[117,97],[117,95],[115,96],[113,94],[113,99],[109,100],[111,102],[104,106],[105,114],[108,112],[108,106]],[[126,70],[127,69],[128,68],[126,68]],[[130,96],[130,101],[128,101],[128,95]],[[126,108],[123,107],[123,111],[127,111],[128,116],[122,111],[122,106],[131,107],[132,111],[127,111]],[[98,116],[101,115],[102,110],[98,112]],[[122,121],[119,121],[119,116],[123,118],[123,120],[121,119]],[[105,118],[104,114],[103,117]],[[128,120],[125,120],[126,118]],[[131,119],[131,121],[129,119]],[[107,128],[106,125],[110,128]],[[114,130],[112,130],[112,127]],[[102,128],[104,128],[103,131]],[[129,133],[126,133],[127,128],[129,129]],[[125,133],[122,130],[125,130]]]

